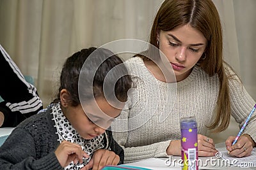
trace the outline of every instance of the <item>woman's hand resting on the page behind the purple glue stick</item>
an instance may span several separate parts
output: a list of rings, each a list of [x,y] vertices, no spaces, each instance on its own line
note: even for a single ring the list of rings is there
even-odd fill
[[[198,141],[198,156],[200,157],[212,157],[218,152],[214,146],[214,142],[211,138],[202,134],[197,135]],[[168,155],[181,155],[180,140],[171,141],[166,153]]]

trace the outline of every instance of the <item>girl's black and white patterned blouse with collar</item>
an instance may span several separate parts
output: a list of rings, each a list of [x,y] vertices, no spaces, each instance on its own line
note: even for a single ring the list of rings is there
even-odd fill
[[[51,114],[53,116],[52,120],[54,120],[55,122],[54,127],[56,127],[57,129],[57,134],[59,137],[58,141],[60,141],[61,143],[63,140],[66,140],[71,143],[77,143],[78,145],[81,145],[84,152],[86,152],[90,156],[90,158],[88,159],[83,159],[83,164],[77,163],[75,165],[73,162],[71,162],[67,167],[64,168],[65,170],[81,169],[90,161],[93,152],[108,147],[108,136],[106,132],[104,132],[100,136],[96,136],[93,139],[84,139],[77,133],[76,129],[72,127],[68,119],[65,117],[61,110],[60,103],[52,104],[51,109]]]

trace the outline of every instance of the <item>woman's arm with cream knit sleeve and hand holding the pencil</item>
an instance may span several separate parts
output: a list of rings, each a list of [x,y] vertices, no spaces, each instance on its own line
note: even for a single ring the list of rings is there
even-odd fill
[[[233,79],[229,80],[230,89],[230,103],[231,103],[231,114],[235,118],[236,122],[239,123],[241,128],[252,111],[255,101],[244,89],[243,84],[237,76],[233,76]],[[250,121],[244,129],[243,135],[239,138],[237,143],[232,146],[232,142],[236,136],[230,136],[226,141],[227,150],[230,151],[230,155],[236,157],[244,157],[251,154],[253,147],[255,147],[256,141],[256,114],[254,113],[250,118]],[[238,133],[238,132],[237,132]],[[245,147],[245,149],[243,148]],[[244,150],[246,150],[244,152]]]

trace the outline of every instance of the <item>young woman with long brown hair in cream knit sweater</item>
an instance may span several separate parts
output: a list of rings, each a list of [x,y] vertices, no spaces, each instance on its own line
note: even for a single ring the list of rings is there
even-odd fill
[[[125,62],[136,89],[120,116],[127,122],[112,125],[119,131],[113,136],[124,146],[125,162],[180,155],[181,117],[196,117],[198,155],[206,157],[217,152],[208,130],[227,129],[230,115],[243,125],[255,101],[223,61],[222,41],[220,17],[211,0],[163,2],[150,33],[150,44],[159,48],[158,54],[150,46],[143,55]],[[159,52],[173,69],[176,90],[159,67],[163,59]],[[255,123],[253,116],[235,145],[234,136],[227,138],[230,155],[250,155],[256,141]]]

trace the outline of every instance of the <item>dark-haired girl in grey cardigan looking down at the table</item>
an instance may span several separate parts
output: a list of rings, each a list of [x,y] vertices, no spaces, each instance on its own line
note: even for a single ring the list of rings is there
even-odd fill
[[[93,74],[100,60],[104,62]],[[105,95],[105,77],[107,86],[114,85],[114,97]],[[122,60],[109,50],[92,47],[74,53],[63,65],[54,102],[19,124],[1,146],[0,169],[101,169],[122,164],[124,150],[106,129],[120,115],[131,84]]]

